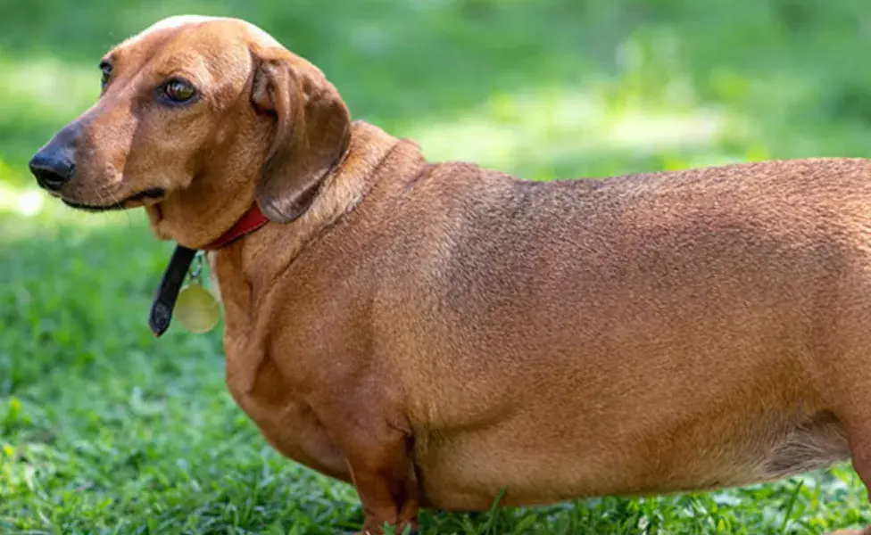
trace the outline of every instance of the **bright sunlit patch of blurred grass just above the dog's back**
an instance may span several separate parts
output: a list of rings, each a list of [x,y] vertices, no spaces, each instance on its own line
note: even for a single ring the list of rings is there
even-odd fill
[[[567,159],[580,168],[603,152],[648,157],[701,152],[708,163],[722,161],[719,144],[727,124],[726,114],[716,109],[615,106],[607,95],[578,86],[493,95],[459,117],[416,121],[405,134],[435,160],[476,161],[510,171]]]

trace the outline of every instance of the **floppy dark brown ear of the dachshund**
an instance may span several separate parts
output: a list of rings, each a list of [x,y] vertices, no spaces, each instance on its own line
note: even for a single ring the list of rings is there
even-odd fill
[[[276,121],[254,197],[267,218],[281,223],[311,206],[351,138],[350,114],[336,87],[310,63],[288,55],[253,54],[251,95],[254,108]]]

